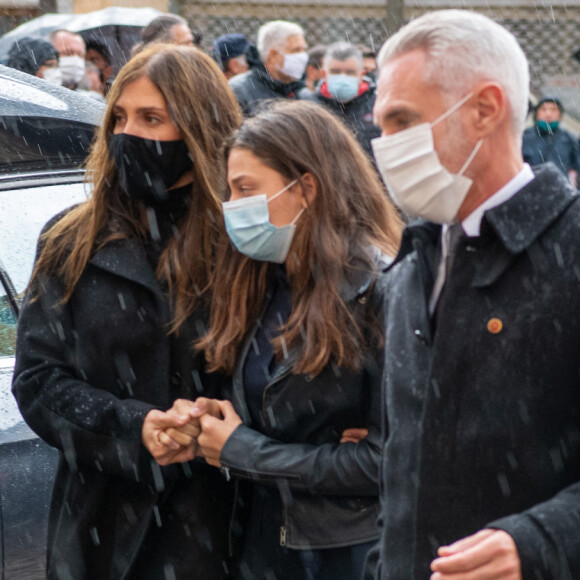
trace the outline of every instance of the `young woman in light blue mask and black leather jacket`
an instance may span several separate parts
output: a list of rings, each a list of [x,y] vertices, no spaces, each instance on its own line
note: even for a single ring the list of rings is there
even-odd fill
[[[318,105],[270,105],[227,154],[229,240],[199,344],[233,390],[200,418],[199,453],[251,482],[240,578],[355,579],[378,537],[383,272],[401,224]],[[341,443],[355,427],[368,435]]]

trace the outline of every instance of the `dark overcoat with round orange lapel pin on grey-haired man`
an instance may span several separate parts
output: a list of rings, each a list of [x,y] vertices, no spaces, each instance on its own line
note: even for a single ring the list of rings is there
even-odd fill
[[[552,165],[534,171],[460,241],[436,327],[440,227],[405,231],[375,578],[426,580],[439,546],[484,527],[512,535],[525,580],[580,578],[580,197]]]

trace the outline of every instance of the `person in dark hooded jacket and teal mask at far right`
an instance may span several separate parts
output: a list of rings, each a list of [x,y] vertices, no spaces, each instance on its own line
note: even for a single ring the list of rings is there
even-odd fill
[[[522,153],[530,165],[551,161],[574,186],[578,184],[578,139],[560,127],[564,106],[556,97],[544,97],[534,108],[534,126],[524,131]]]

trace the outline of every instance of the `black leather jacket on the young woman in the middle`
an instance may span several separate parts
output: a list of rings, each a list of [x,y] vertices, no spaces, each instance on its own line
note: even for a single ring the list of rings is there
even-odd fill
[[[379,316],[382,271],[390,259],[376,252],[377,272],[359,272],[343,296],[361,324]],[[328,364],[317,376],[292,374],[299,347],[275,372],[263,395],[265,433],[252,429],[242,369],[256,333],[248,335],[234,373],[231,400],[244,424],[221,452],[222,471],[275,485],[283,504],[280,543],[295,549],[354,545],[378,537],[378,465],[382,355],[369,349],[358,372]],[[340,443],[344,429],[366,427],[357,444]]]

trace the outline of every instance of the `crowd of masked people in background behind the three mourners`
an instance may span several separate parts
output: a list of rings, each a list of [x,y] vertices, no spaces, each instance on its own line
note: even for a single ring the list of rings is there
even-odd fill
[[[203,34],[184,18],[162,14],[143,28],[134,56],[152,43],[202,47]],[[307,47],[304,30],[293,22],[261,26],[256,44],[241,33],[215,39],[209,50],[245,115],[271,98],[312,100],[329,108],[372,155],[371,140],[380,135],[373,119],[377,61],[374,49],[342,41]],[[67,30],[48,39],[25,37],[14,42],[5,64],[104,101],[114,80],[111,47]],[[578,138],[561,126],[564,106],[554,96],[530,103],[532,125],[523,135],[524,161],[551,161],[573,185],[580,172]]]

